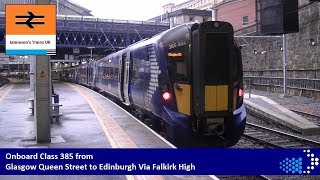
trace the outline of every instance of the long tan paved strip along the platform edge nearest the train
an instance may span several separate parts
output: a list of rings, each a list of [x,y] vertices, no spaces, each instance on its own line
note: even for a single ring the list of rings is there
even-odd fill
[[[91,109],[97,116],[99,123],[106,134],[112,148],[138,148],[137,145],[133,142],[130,136],[121,128],[121,126],[106,112],[103,106],[90,96],[89,93],[85,92],[83,88],[78,85],[69,84],[72,88],[77,90],[79,94],[86,99]],[[156,179],[163,180],[162,176],[150,176],[150,175],[140,175],[132,176],[126,175],[128,180],[148,180]]]

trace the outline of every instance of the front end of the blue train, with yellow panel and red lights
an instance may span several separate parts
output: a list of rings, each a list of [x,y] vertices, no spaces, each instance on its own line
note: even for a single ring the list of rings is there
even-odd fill
[[[246,122],[241,52],[233,27],[208,21],[176,31],[164,43],[170,84],[164,85],[162,98],[170,103],[163,117],[169,134],[187,141],[183,144],[206,139],[213,146],[233,146]]]

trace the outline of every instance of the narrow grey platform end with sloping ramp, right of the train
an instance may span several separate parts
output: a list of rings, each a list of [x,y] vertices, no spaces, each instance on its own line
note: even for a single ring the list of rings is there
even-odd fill
[[[249,97],[249,94],[245,93],[244,103],[247,111],[256,116],[274,121],[304,135],[320,134],[318,125],[266,96],[251,94]]]

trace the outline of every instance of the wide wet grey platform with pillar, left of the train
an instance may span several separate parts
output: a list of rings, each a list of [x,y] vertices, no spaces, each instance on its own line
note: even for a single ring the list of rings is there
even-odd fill
[[[0,148],[176,148],[104,96],[86,87],[55,83],[60,96],[59,124],[51,124],[52,142],[36,144],[27,83],[0,88]],[[0,176],[0,179],[43,179]],[[45,179],[217,179],[215,176],[46,176]]]

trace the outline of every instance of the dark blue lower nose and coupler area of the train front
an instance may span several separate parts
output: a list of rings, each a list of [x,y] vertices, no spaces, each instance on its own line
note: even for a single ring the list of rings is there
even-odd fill
[[[165,109],[161,127],[165,136],[180,147],[231,147],[241,138],[246,124],[244,106],[228,117],[203,118],[201,131],[195,131],[196,117]]]

